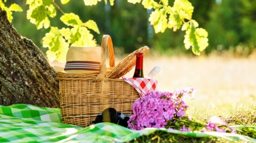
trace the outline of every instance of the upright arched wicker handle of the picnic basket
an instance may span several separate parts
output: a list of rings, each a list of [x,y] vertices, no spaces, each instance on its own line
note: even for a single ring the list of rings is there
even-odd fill
[[[99,83],[106,75],[106,48],[108,46],[109,53],[109,66],[115,67],[115,57],[114,49],[111,37],[109,35],[104,35],[101,42],[101,64],[100,64],[100,74],[96,77],[95,82]]]

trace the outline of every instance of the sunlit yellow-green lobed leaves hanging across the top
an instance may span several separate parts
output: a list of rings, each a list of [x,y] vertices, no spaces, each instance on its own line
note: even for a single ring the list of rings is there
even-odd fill
[[[65,5],[70,0],[61,0],[61,4]],[[84,0],[85,6],[97,5],[101,0]],[[107,0],[104,0],[108,3]],[[110,5],[114,5],[114,0],[110,0]],[[169,6],[168,0],[155,2],[154,0],[128,0],[130,3],[142,3],[144,8],[151,9],[149,21],[155,29],[155,33],[164,32],[167,28],[176,31],[180,29],[185,31],[184,44],[185,48],[192,48],[196,55],[200,55],[208,46],[208,33],[203,28],[199,28],[199,24],[192,19],[193,6],[188,0],[175,0],[173,6]],[[74,46],[96,46],[96,40],[89,29],[96,33],[100,33],[97,24],[93,20],[85,23],[79,18],[79,15],[72,12],[67,14],[52,0],[27,0],[29,5],[27,10],[27,19],[36,25],[37,29],[50,28],[46,36],[43,37],[43,47],[47,47],[47,57],[50,61],[58,60],[65,62],[65,55],[68,47]],[[11,5],[6,8],[3,2],[0,3],[4,10],[9,13],[14,10],[20,10],[18,5]],[[63,16],[60,20],[69,28],[53,27],[49,18],[55,18],[56,8],[58,8]],[[11,13],[8,14],[11,20]],[[132,25],[131,25],[132,26]],[[70,28],[71,27],[71,28]]]

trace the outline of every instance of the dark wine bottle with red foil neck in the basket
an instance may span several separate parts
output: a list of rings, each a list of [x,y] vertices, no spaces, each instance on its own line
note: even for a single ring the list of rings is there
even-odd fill
[[[136,54],[136,66],[133,77],[144,77],[143,73],[143,53]]]

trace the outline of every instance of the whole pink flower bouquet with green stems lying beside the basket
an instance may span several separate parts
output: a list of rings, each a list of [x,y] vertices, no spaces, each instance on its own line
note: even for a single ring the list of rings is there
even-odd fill
[[[224,121],[217,116],[212,116],[208,123],[198,122],[187,116],[188,109],[183,97],[187,94],[191,98],[195,92],[194,88],[178,88],[174,93],[169,92],[147,92],[142,98],[137,99],[133,104],[133,115],[128,125],[130,129],[144,128],[168,128],[180,131],[233,131]],[[216,125],[216,124],[218,125]]]

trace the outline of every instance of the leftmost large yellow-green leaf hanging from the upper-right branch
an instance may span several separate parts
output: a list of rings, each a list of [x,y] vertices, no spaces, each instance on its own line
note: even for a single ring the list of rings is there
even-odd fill
[[[150,24],[153,25],[155,29],[155,33],[164,32],[167,28],[167,18],[166,15],[163,14],[163,9],[155,10],[151,13],[149,21]]]

